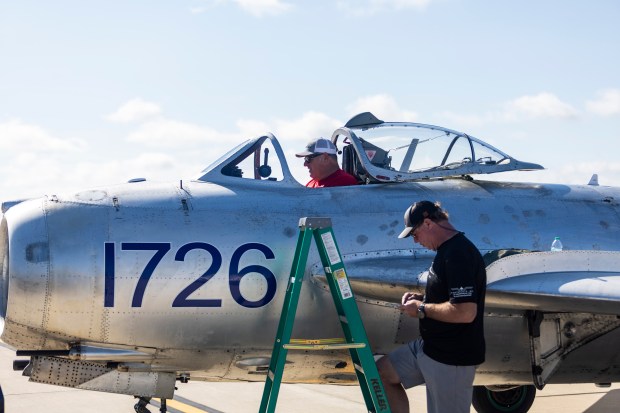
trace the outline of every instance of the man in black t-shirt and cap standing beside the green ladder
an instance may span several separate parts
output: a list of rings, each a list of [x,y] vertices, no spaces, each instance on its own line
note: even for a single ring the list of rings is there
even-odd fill
[[[420,338],[377,362],[392,412],[408,412],[405,389],[426,384],[428,412],[469,412],[476,367],[484,362],[486,271],[478,249],[439,203],[405,212],[399,238],[437,251],[425,295],[406,292],[401,311],[417,317]]]

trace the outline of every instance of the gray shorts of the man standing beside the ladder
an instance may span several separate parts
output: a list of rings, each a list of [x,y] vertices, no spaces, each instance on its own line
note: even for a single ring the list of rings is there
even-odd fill
[[[429,413],[469,413],[476,366],[451,366],[424,354],[421,338],[388,354],[403,386],[426,383]]]

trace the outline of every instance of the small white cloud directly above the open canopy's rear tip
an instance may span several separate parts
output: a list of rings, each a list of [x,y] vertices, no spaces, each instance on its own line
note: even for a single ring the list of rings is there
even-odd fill
[[[522,96],[506,105],[507,118],[526,116],[531,118],[575,118],[576,109],[562,102],[552,93],[542,92],[534,96]]]

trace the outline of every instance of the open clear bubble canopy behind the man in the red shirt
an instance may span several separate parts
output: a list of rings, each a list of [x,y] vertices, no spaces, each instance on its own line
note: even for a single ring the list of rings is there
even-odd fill
[[[336,130],[343,169],[366,183],[543,169],[465,133],[433,125],[383,122],[369,112]]]

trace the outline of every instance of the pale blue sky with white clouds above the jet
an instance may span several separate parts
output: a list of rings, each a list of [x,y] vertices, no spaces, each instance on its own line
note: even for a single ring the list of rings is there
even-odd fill
[[[353,115],[466,132],[620,186],[616,0],[0,0],[0,200],[176,181]]]

